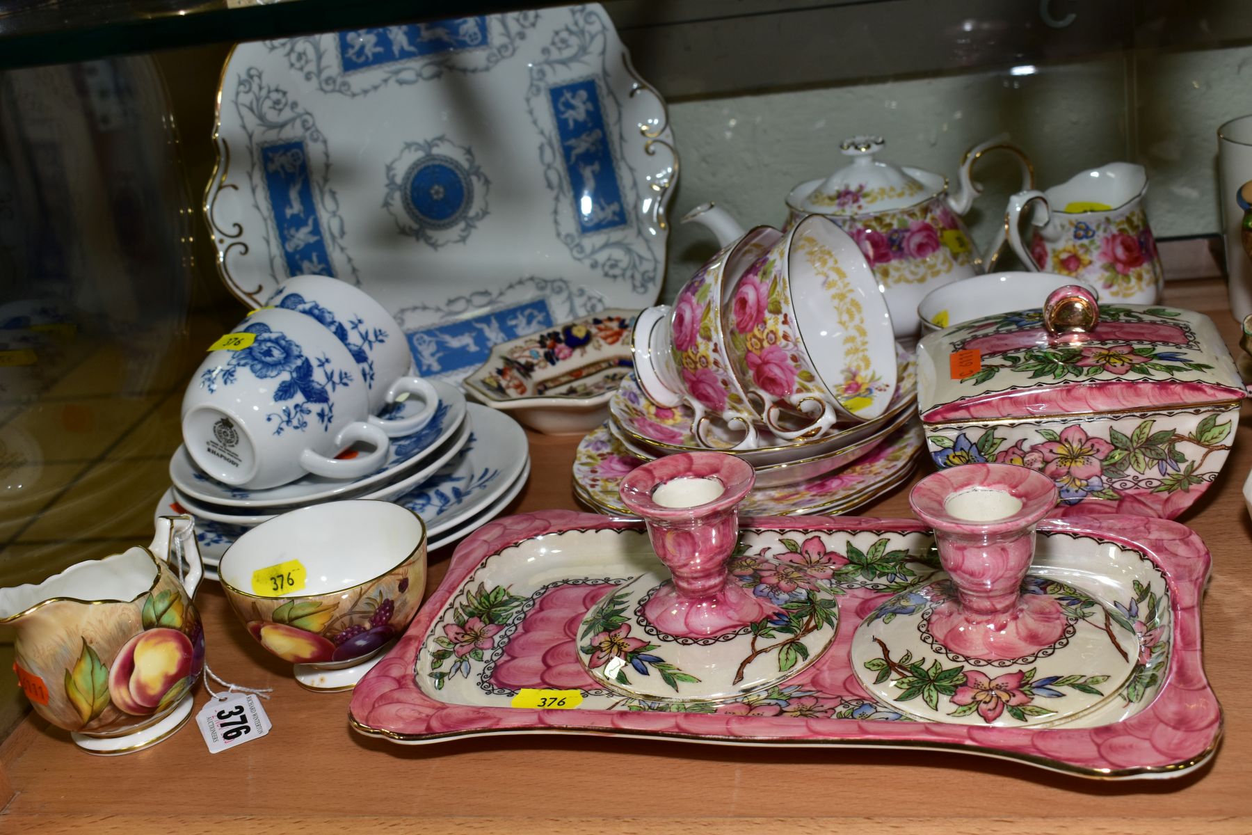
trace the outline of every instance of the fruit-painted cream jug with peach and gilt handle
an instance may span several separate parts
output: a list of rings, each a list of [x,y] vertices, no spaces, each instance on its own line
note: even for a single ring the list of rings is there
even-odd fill
[[[184,560],[185,576],[173,567]],[[91,754],[173,735],[204,669],[192,603],[203,575],[192,517],[163,516],[146,548],[0,588],[0,623],[16,631],[14,669],[35,711]]]

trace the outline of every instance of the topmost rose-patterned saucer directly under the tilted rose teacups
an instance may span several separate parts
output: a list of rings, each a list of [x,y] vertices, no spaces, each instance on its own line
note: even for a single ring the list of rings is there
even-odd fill
[[[784,442],[767,429],[761,428],[759,429],[761,446],[756,449],[736,449],[735,454],[754,467],[761,467],[834,452],[874,434],[903,411],[913,408],[913,403],[916,401],[918,376],[914,354],[896,343],[895,362],[899,384],[883,414],[829,434],[803,441]],[[634,374],[622,381],[617,393],[608,402],[608,412],[617,427],[635,446],[654,456],[709,449],[691,431],[694,417],[691,409],[687,406],[662,408],[655,404],[644,394],[644,389]],[[727,437],[726,448],[734,444],[735,439]]]

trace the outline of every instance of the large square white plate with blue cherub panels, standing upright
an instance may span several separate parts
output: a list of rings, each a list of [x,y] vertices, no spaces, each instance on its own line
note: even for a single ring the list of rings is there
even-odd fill
[[[677,156],[596,4],[239,44],[205,217],[227,287],[361,287],[423,377],[655,303]]]

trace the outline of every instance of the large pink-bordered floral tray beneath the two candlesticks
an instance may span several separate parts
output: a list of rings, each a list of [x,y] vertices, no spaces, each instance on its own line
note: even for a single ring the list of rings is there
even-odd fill
[[[1199,647],[1199,600],[1211,558],[1182,525],[1102,516],[1039,526],[1033,573],[1083,588],[1149,636],[1116,699],[1045,729],[1003,716],[993,726],[970,711],[959,717],[964,724],[913,721],[860,689],[849,667],[858,623],[878,603],[938,572],[924,525],[856,517],[742,525],[736,576],[755,581],[760,593],[790,598],[777,572],[751,576],[752,560],[766,555],[794,562],[800,585],[820,583],[838,595],[845,621],[825,653],[785,685],[720,704],[682,701],[680,679],[674,685],[679,701],[664,704],[597,689],[580,655],[621,656],[627,676],[665,663],[665,637],[632,637],[636,630],[644,635],[632,613],[612,635],[576,630],[613,587],[660,563],[637,525],[546,511],[497,520],[457,548],[408,632],[353,692],[353,727],[402,744],[528,732],[929,749],[1104,779],[1179,776],[1213,756],[1222,716]],[[925,672],[921,667],[918,675]],[[1014,704],[1064,697],[1059,681],[1032,687],[1027,672],[988,681],[1002,690],[1013,685]],[[979,676],[948,680],[958,701],[980,692]],[[512,707],[522,690],[575,692],[565,694],[565,710]]]

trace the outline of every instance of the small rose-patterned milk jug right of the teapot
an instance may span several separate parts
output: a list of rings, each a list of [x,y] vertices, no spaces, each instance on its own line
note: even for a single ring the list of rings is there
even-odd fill
[[[1109,163],[1045,192],[1020,192],[1009,199],[1009,242],[1030,270],[1079,278],[1111,302],[1156,304],[1164,272],[1143,212],[1147,190],[1142,165]],[[1020,218],[1032,204],[1023,238]]]

